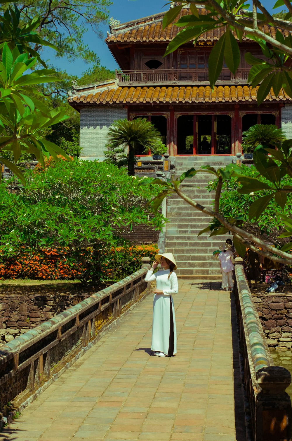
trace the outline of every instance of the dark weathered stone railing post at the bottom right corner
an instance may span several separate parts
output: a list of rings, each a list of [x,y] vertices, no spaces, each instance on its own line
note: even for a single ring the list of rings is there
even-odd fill
[[[281,366],[266,366],[256,373],[255,441],[291,441],[291,400],[285,389],[290,372]]]

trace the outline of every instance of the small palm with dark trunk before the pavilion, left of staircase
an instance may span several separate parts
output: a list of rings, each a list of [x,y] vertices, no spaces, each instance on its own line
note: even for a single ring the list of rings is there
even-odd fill
[[[135,148],[139,145],[151,150],[161,139],[160,132],[145,118],[117,120],[110,127],[108,142],[112,148],[129,146],[128,175],[135,175]]]

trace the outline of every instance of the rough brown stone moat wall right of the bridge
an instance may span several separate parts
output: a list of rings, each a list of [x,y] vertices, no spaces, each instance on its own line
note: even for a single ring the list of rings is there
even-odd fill
[[[292,348],[292,294],[255,293],[253,300],[268,345],[278,351]]]

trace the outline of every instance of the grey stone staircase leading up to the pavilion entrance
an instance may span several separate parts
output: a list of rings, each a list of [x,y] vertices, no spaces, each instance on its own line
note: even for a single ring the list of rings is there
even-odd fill
[[[180,176],[191,167],[198,169],[207,164],[216,169],[230,164],[231,160],[232,156],[176,157],[175,176]],[[198,173],[190,179],[185,179],[184,184],[187,186],[183,188],[183,192],[201,205],[210,207],[215,193],[208,193],[205,187],[213,179],[215,179],[214,175]],[[178,266],[177,275],[219,278],[221,276],[219,262],[212,253],[219,249],[228,236],[209,238],[207,233],[197,237],[197,234],[208,226],[211,218],[187,204],[176,194],[167,200],[167,217],[165,252],[174,254]],[[232,239],[231,235],[230,238]]]

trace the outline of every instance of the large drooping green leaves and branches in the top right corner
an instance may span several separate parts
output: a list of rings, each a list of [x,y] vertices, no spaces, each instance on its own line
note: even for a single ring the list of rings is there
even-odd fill
[[[184,6],[190,4],[190,14],[177,19]],[[208,10],[206,15],[201,14],[202,6]],[[209,30],[224,28],[219,41],[215,44],[208,59],[209,81],[212,88],[218,79],[223,62],[235,74],[240,63],[240,50],[238,43],[242,41],[245,33],[255,41],[263,53],[263,58],[255,57],[247,52],[245,60],[251,66],[248,75],[248,84],[252,87],[259,86],[257,101],[262,103],[273,87],[277,96],[281,87],[284,87],[288,96],[292,97],[292,2],[290,0],[277,0],[274,8],[287,7],[285,20],[273,17],[259,0],[252,0],[251,6],[240,0],[182,0],[170,2],[170,10],[166,12],[163,20],[165,28],[175,21],[175,26],[181,30],[168,44],[165,54],[178,49],[188,41],[196,43],[198,37]],[[263,26],[275,26],[275,38],[263,29]],[[281,29],[282,32],[279,30]],[[286,31],[287,36],[284,36]],[[235,37],[236,36],[236,37]]]

